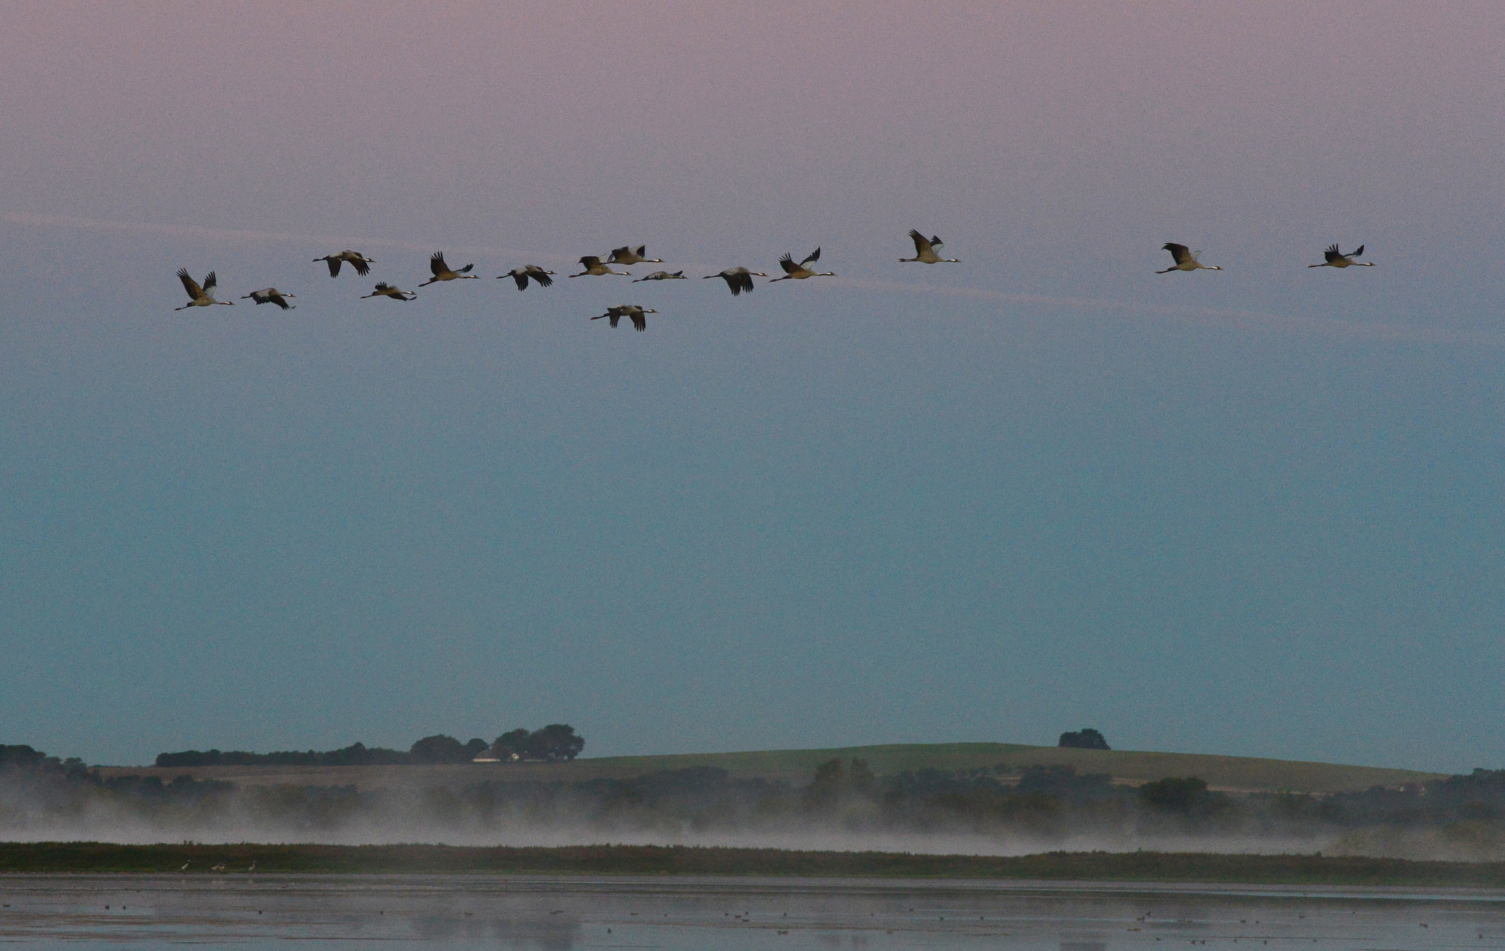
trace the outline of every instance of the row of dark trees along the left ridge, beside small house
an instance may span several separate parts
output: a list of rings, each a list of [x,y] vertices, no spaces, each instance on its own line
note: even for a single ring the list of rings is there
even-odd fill
[[[248,752],[244,749],[184,749],[157,754],[157,766],[408,766],[432,763],[558,763],[569,761],[585,748],[585,737],[569,724],[549,724],[542,730],[525,727],[503,733],[492,742],[474,737],[462,743],[436,733],[415,740],[406,751],[351,743],[340,749],[284,749]]]

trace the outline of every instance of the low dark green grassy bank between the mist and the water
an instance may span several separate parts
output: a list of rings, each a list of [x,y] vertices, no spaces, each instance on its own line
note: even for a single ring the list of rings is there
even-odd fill
[[[762,874],[1505,888],[1505,862],[1052,852],[1016,858],[659,846],[119,846],[0,843],[0,873]],[[211,873],[214,865],[224,873]]]

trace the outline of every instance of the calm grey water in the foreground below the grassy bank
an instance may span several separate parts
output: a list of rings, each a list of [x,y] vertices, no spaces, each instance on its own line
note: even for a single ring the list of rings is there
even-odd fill
[[[575,951],[1505,946],[1505,891],[552,876],[0,876],[0,940]]]

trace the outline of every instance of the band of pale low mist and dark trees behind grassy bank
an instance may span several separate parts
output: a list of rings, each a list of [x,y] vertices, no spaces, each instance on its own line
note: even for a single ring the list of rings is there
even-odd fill
[[[411,785],[238,785],[185,772],[169,773],[167,781],[101,775],[38,754],[26,766],[0,769],[0,835],[14,841],[617,843],[968,855],[1148,849],[1505,856],[1505,770],[1317,796],[1222,791],[1195,776],[1127,785],[1108,773],[1041,764],[876,775],[861,758],[831,758],[790,779],[700,766],[542,781],[498,766],[468,773],[489,776],[483,781],[444,785],[423,767],[402,769]]]

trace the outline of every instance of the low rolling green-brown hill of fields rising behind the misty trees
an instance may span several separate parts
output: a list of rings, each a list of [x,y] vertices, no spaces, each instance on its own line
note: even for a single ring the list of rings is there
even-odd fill
[[[816,766],[832,757],[867,760],[877,775],[920,769],[989,769],[1005,764],[1013,773],[1034,764],[1069,764],[1084,773],[1109,773],[1115,782],[1138,785],[1162,776],[1201,776],[1219,790],[1336,793],[1371,785],[1407,785],[1440,779],[1445,773],[1299,760],[1222,757],[1193,752],[1132,749],[1063,749],[1022,743],[889,743],[832,749],[765,749],[751,752],[692,752],[680,755],[596,757],[573,763],[464,763],[432,766],[199,766],[181,769],[104,767],[107,776],[191,773],[200,779],[230,779],[241,785],[283,782],[349,785],[361,788],[462,787],[483,779],[549,781],[625,778],[665,769],[716,766],[734,776],[765,776],[808,782]]]

